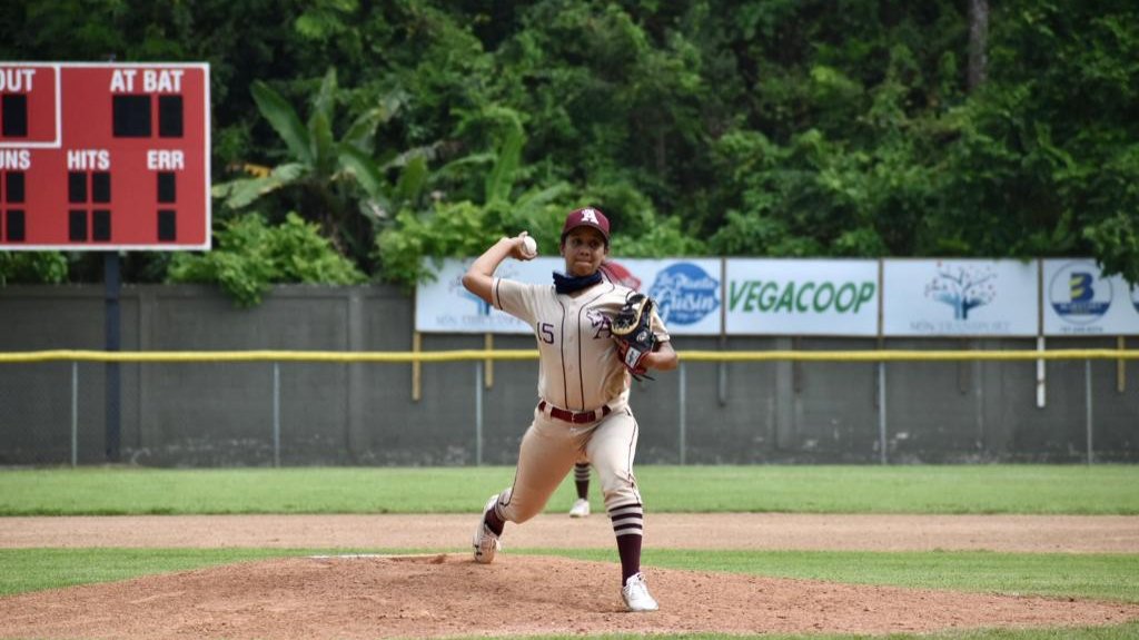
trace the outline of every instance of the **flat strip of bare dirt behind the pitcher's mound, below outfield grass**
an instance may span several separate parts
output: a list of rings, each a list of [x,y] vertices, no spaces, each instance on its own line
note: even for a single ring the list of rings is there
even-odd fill
[[[474,515],[0,518],[0,548],[435,549],[467,544]],[[608,549],[608,518],[507,525],[516,548]],[[650,514],[646,548],[1139,553],[1134,516]]]

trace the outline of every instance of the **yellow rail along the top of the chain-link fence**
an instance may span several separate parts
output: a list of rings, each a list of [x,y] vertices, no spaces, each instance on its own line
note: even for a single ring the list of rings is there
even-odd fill
[[[1066,348],[1051,351],[682,351],[685,362],[894,362],[973,360],[1139,360],[1139,350]],[[453,362],[536,360],[534,350],[384,351],[84,351],[0,353],[0,364],[26,362]]]

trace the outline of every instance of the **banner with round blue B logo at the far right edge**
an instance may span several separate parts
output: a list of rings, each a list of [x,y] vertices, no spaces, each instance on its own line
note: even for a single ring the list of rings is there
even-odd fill
[[[1139,288],[1091,259],[1046,260],[1044,335],[1139,335]]]

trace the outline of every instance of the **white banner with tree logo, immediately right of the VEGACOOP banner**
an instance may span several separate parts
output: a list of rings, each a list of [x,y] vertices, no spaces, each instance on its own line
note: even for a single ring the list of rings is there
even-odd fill
[[[1036,262],[886,260],[886,336],[1035,336]]]

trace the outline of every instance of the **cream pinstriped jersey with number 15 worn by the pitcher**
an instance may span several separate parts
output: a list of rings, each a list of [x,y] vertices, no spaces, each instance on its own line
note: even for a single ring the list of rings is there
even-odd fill
[[[573,297],[558,294],[554,285],[494,278],[491,303],[534,330],[539,397],[562,409],[589,411],[629,402],[632,378],[616,355],[609,319],[631,293],[603,280]],[[652,326],[657,342],[670,339],[655,305]]]

